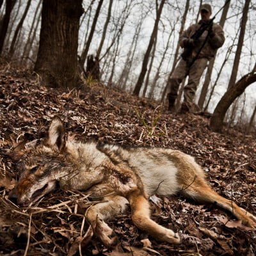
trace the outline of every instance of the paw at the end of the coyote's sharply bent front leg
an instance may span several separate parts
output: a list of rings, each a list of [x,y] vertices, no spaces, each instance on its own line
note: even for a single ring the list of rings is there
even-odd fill
[[[112,245],[115,245],[117,242],[117,237],[112,228],[108,226],[104,221],[99,221],[97,223],[97,232],[96,236],[102,241],[104,246],[110,248]]]

